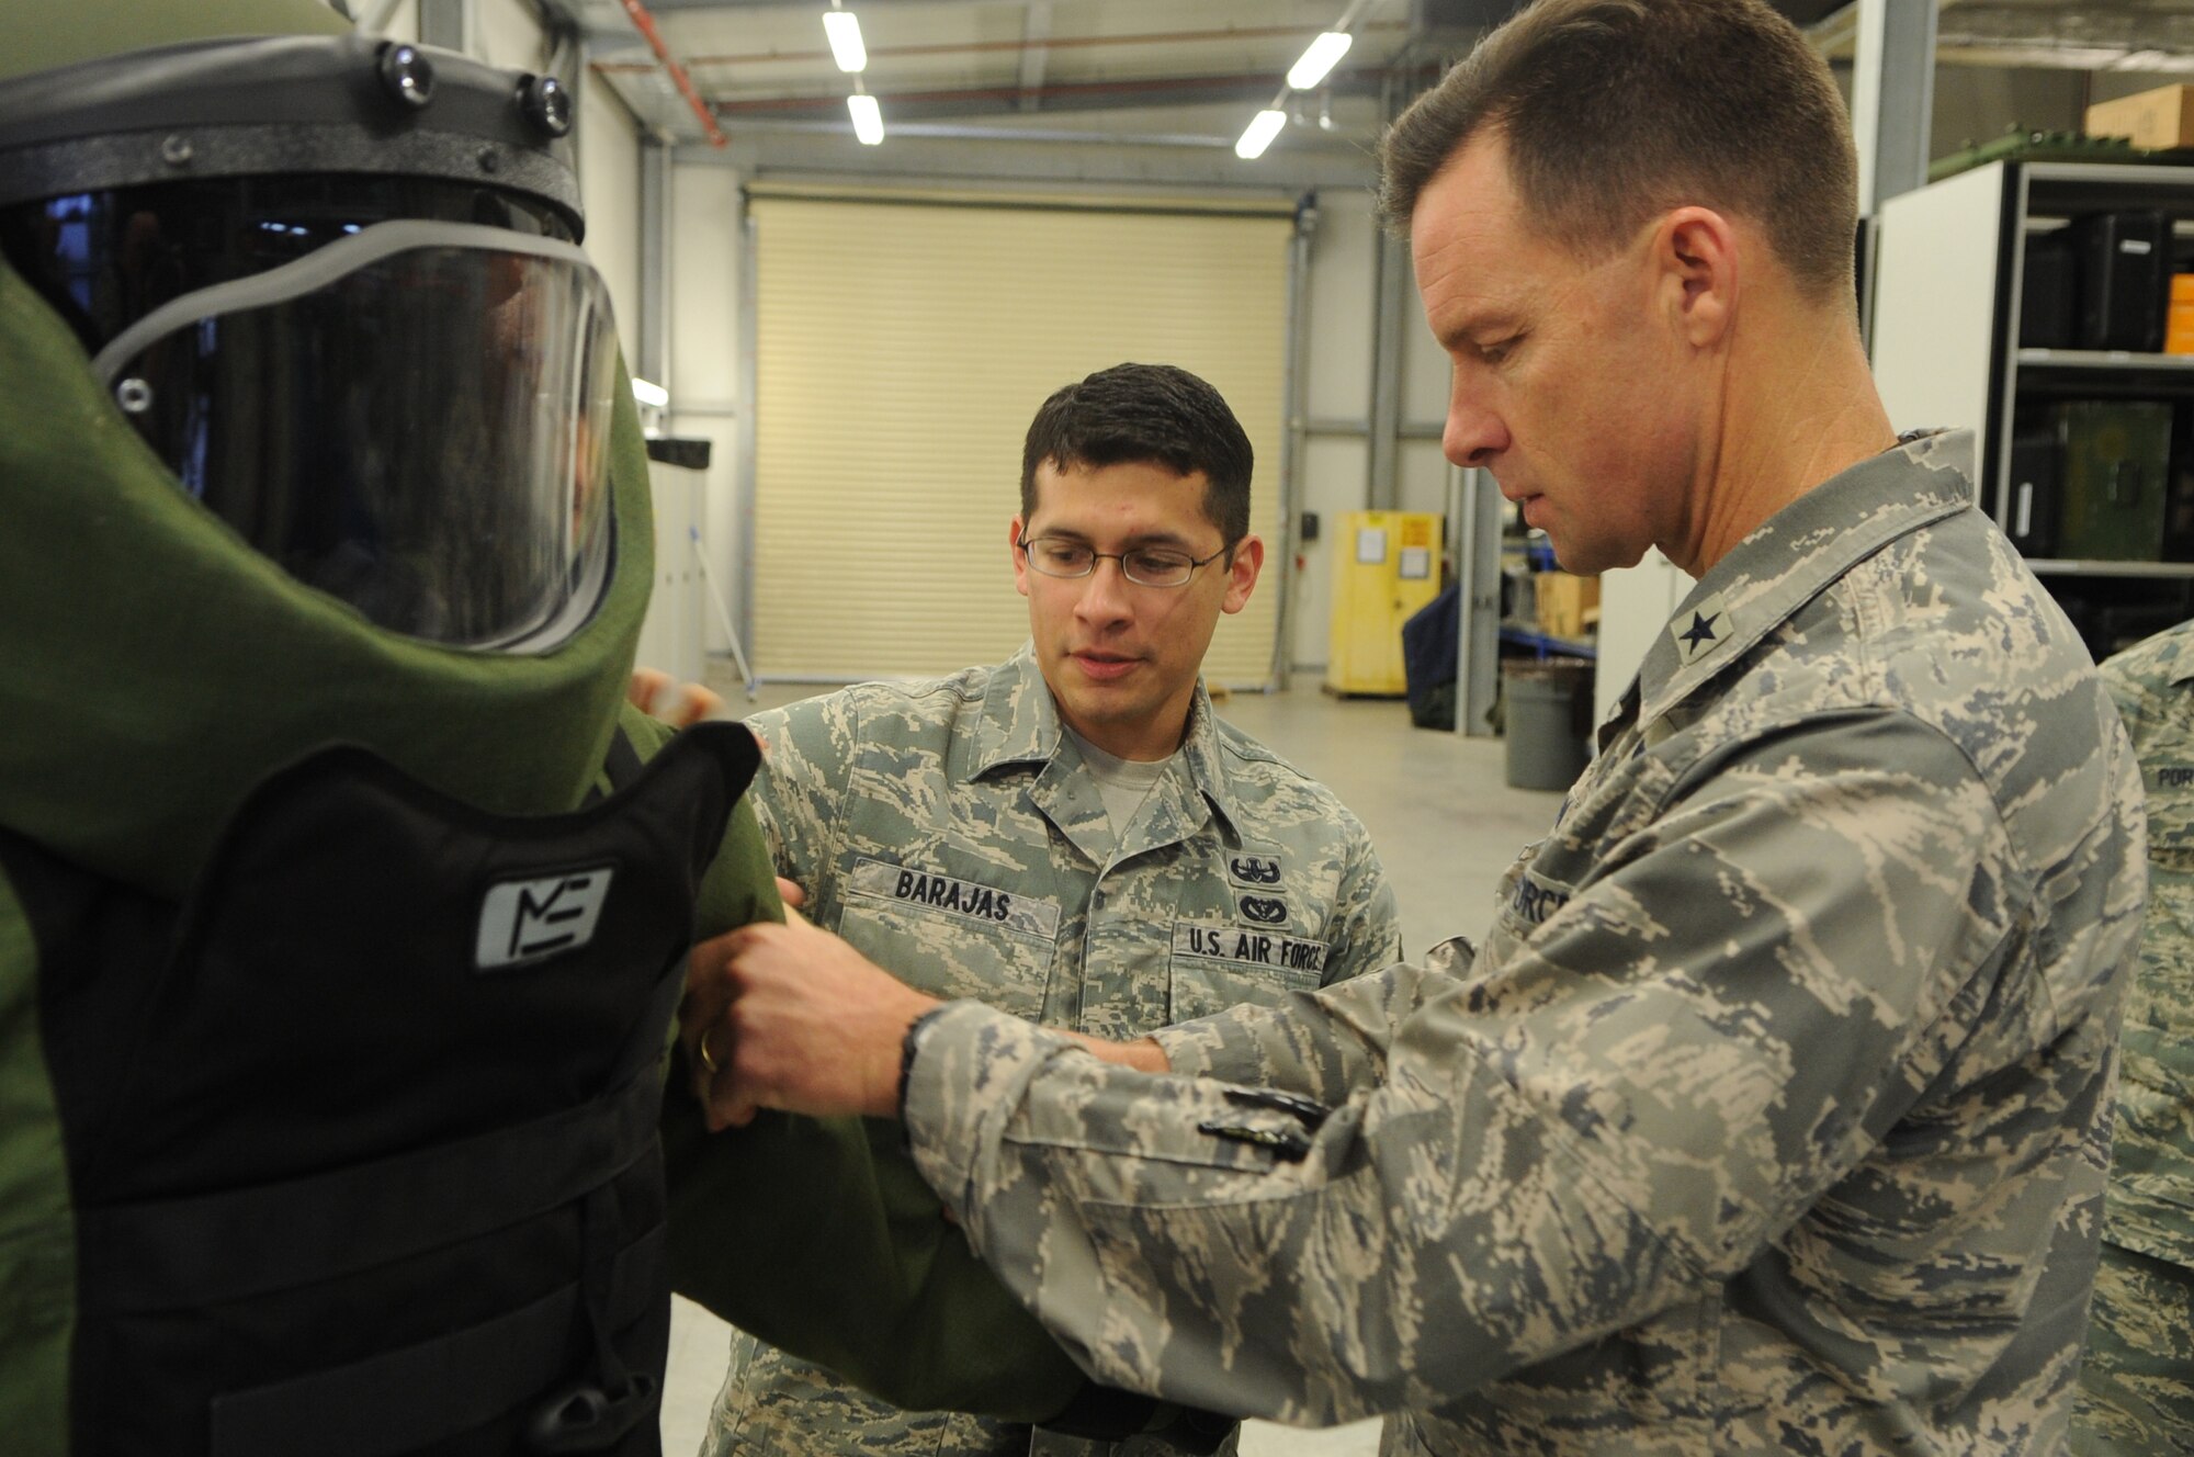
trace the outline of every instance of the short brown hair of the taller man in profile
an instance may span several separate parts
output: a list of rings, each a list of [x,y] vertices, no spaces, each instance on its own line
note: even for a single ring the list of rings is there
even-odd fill
[[[1485,129],[1529,219],[1580,255],[1700,204],[1766,230],[1797,285],[1852,290],[1858,154],[1828,64],[1762,0],[1538,0],[1387,129],[1380,213],[1409,230]]]

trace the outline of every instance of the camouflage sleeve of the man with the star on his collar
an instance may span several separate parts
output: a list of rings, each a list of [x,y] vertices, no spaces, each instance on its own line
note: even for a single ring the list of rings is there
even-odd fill
[[[952,1003],[906,1126],[1095,1378],[1297,1424],[1439,1407],[1718,1290],[1990,996],[2025,998],[1992,1014],[2047,1044],[2045,990],[1988,987],[2016,878],[1955,746],[1893,713],[1817,722],[1674,786],[1468,979],[1400,992],[1393,970],[1262,1014],[1275,1060],[1286,1034],[1384,1053],[1323,1119]],[[1398,1025],[1369,1025],[1382,994]]]

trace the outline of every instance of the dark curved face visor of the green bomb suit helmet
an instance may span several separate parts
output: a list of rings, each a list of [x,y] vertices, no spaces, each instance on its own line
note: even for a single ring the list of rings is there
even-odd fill
[[[391,632],[544,652],[608,586],[617,329],[570,244],[373,224],[92,364],[186,492]]]

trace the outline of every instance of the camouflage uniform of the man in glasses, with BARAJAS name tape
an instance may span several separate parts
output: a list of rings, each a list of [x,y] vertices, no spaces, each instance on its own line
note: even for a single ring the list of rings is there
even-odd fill
[[[1183,753],[1115,849],[1033,656],[862,685],[748,724],[779,869],[818,926],[937,996],[1139,1038],[1277,1003],[1402,955],[1393,891],[1330,790],[1220,722],[1198,687]],[[878,1126],[897,1150],[897,1126]],[[733,1341],[717,1455],[1027,1453],[1029,1428],[908,1413]],[[1040,1453],[1097,1453],[1038,1435]],[[1121,1450],[1165,1453],[1143,1437]],[[1229,1448],[1231,1450],[1231,1448]]]

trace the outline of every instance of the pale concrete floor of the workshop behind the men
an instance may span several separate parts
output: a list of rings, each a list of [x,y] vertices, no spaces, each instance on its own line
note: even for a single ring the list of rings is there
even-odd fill
[[[709,685],[733,718],[792,702],[821,689],[764,685],[750,704],[724,663]],[[1501,871],[1545,834],[1560,794],[1512,790],[1501,739],[1466,739],[1413,728],[1395,700],[1338,700],[1299,678],[1281,693],[1233,693],[1220,715],[1264,739],[1297,768],[1316,775],[1362,818],[1402,902],[1402,941],[1422,955],[1450,935],[1479,939],[1492,924]],[[663,1450],[687,1457],[700,1446],[709,1407],[724,1378],[728,1328],[678,1301],[663,1402]],[[1244,1457],[1371,1457],[1378,1424],[1294,1431],[1251,1422]]]

